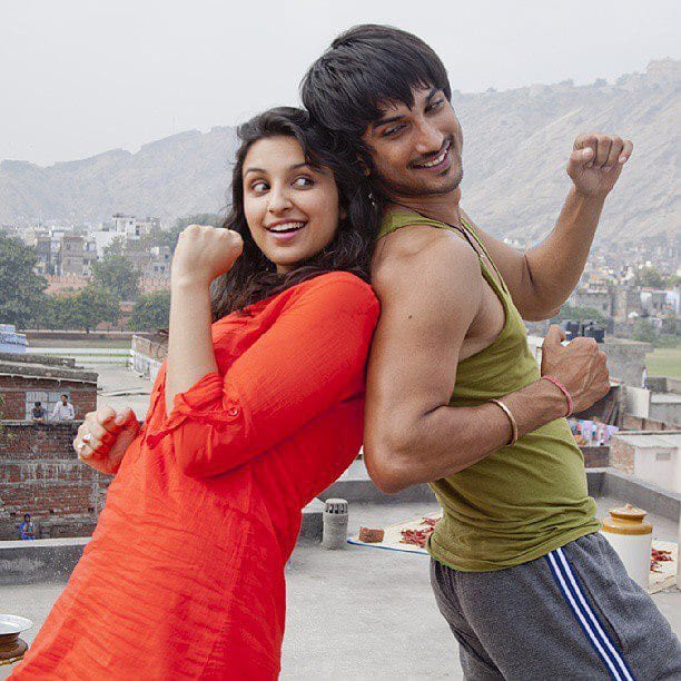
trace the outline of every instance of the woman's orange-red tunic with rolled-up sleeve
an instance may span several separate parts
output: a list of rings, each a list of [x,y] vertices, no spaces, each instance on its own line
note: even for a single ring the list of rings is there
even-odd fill
[[[91,541],[12,679],[272,679],[302,509],[362,442],[378,303],[330,273],[213,325],[217,373],[165,367]]]

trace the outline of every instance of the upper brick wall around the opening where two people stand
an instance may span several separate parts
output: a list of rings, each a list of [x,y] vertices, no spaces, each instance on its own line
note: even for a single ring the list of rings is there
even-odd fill
[[[97,409],[97,386],[92,383],[72,383],[57,378],[0,376],[1,417],[10,421],[24,420],[26,393],[28,392],[66,393],[73,404],[76,418],[82,418],[88,412]],[[42,406],[45,407],[46,404],[43,403]]]

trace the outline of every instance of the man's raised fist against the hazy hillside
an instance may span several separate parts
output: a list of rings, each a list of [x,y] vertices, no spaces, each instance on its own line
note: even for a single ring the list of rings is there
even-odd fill
[[[585,196],[605,197],[618,181],[632,150],[632,142],[621,137],[580,135],[574,140],[568,162],[568,175],[575,190]]]

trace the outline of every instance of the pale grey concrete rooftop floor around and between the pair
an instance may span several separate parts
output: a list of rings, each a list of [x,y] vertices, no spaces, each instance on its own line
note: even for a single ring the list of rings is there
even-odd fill
[[[619,505],[599,500],[599,512]],[[435,511],[433,504],[352,504],[349,532],[385,526]],[[677,537],[674,523],[652,517],[659,539]],[[288,612],[283,679],[462,679],[454,639],[428,584],[428,559],[348,545],[326,551],[299,544],[286,573]],[[63,584],[0,586],[0,611],[28,616],[30,643]],[[681,634],[681,592],[653,596]],[[539,641],[537,641],[539,643]],[[0,667],[0,679],[9,674]]]

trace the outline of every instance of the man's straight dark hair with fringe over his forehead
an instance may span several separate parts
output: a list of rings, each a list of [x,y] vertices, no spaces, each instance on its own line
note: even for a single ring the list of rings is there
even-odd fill
[[[437,88],[452,99],[440,57],[421,38],[389,26],[365,23],[340,33],[308,69],[303,103],[347,150],[368,160],[359,137],[382,116],[386,101],[414,106],[413,88]]]

